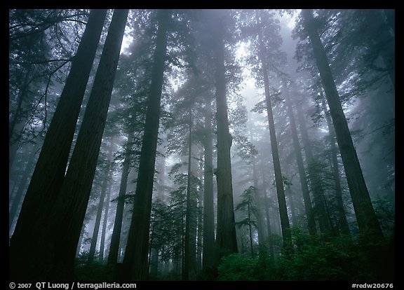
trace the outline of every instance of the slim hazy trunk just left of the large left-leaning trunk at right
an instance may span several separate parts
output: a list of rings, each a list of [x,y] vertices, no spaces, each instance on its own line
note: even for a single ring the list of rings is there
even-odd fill
[[[331,147],[331,155],[332,155],[332,175],[334,176],[335,199],[337,200],[339,228],[341,229],[342,234],[351,235],[351,232],[350,232],[349,226],[348,226],[348,221],[346,220],[344,201],[342,200],[342,188],[341,188],[341,181],[340,181],[340,177],[339,177],[337,146],[335,146],[335,130],[334,130],[334,127],[332,127],[330,113],[328,112],[327,106],[325,104],[325,99],[324,99],[323,94],[321,94],[321,104],[323,106],[325,120],[327,121],[328,132],[330,134],[329,137],[330,137],[330,147]]]

